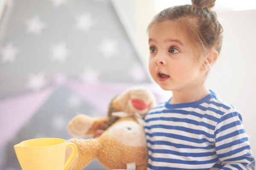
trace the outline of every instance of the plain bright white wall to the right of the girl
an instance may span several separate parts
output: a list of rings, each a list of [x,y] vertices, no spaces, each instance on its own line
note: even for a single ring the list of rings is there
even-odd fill
[[[224,38],[221,56],[209,73],[207,85],[239,109],[256,154],[256,10],[217,14]]]

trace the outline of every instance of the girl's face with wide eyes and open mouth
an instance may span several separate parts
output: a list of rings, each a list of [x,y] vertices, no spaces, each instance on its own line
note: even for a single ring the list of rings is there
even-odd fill
[[[189,90],[204,78],[180,31],[173,21],[153,24],[149,29],[149,71],[163,90]]]

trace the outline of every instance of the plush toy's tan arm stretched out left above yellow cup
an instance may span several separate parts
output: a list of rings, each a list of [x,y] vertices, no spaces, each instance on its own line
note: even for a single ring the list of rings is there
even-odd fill
[[[68,124],[68,131],[73,136],[93,136],[96,130],[100,129],[102,122],[107,122],[107,117],[90,117],[84,114],[75,116]]]

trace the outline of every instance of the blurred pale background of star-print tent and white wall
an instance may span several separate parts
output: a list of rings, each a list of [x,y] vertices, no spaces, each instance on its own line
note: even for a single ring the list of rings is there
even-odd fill
[[[0,0],[0,170],[20,170],[13,146],[70,139],[76,114],[107,116],[108,103],[133,85],[157,102],[172,96],[148,73],[148,23],[190,0]],[[256,152],[256,1],[217,0],[221,56],[207,86],[242,114]],[[256,153],[254,153],[256,154]],[[84,170],[104,170],[97,160]]]

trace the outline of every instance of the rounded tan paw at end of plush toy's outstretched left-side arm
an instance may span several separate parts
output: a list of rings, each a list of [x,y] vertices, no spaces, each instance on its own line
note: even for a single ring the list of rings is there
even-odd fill
[[[93,119],[90,116],[79,114],[70,121],[68,131],[73,136],[82,137],[85,136],[92,125]]]

